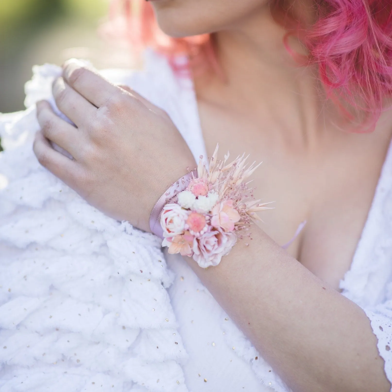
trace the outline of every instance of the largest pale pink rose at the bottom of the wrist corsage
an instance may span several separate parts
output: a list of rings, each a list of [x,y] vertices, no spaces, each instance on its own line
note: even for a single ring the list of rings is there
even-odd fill
[[[237,236],[234,233],[209,230],[193,240],[193,259],[201,268],[218,265],[236,242]]]

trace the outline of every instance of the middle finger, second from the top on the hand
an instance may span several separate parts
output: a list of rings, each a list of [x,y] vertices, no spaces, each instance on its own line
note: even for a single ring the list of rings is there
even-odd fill
[[[96,107],[65,83],[63,78],[54,80],[52,90],[58,109],[77,127],[89,122],[96,115]]]

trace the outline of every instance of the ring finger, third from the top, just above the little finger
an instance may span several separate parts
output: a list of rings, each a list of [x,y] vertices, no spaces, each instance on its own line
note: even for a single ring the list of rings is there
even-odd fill
[[[54,113],[47,101],[37,102],[37,120],[45,138],[59,145],[78,159],[78,144],[82,136],[78,129]]]

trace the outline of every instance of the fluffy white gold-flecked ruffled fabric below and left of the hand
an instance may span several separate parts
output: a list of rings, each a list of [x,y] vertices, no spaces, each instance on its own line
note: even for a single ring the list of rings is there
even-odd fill
[[[34,158],[31,105],[59,73],[35,67],[27,111],[0,117],[0,390],[186,392],[160,240],[96,211]]]

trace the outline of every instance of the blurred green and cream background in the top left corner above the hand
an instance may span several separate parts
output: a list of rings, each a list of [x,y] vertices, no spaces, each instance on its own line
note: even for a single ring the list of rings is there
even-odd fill
[[[108,9],[109,0],[0,0],[0,113],[24,109],[34,64],[78,57],[97,68],[130,65],[126,49],[98,36]]]

